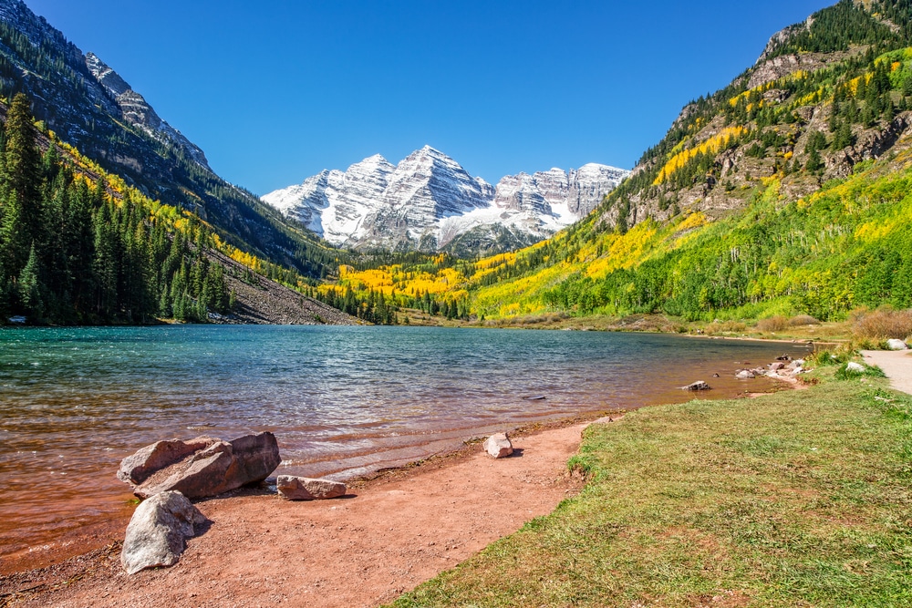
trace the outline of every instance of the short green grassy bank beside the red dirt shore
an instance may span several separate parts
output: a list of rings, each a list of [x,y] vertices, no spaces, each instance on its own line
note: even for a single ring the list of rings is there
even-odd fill
[[[590,427],[578,497],[394,605],[912,605],[912,397],[837,369]]]

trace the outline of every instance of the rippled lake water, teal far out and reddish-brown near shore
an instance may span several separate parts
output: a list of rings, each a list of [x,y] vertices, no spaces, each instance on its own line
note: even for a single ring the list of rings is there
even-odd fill
[[[734,372],[783,350],[806,352],[462,328],[0,330],[0,556],[128,516],[119,460],[160,439],[270,430],[277,473],[346,478],[530,421],[683,401],[679,386],[694,380],[710,382],[710,397],[768,389]]]

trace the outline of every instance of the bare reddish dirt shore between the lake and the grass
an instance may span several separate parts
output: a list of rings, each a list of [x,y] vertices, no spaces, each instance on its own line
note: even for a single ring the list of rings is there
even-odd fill
[[[579,447],[582,428],[515,438],[519,453],[509,459],[491,459],[476,446],[469,454],[369,482],[345,499],[204,501],[198,507],[212,526],[188,542],[172,568],[128,577],[115,545],[69,571],[25,573],[6,581],[0,593],[33,590],[6,595],[12,606],[389,602],[575,494],[580,483],[567,475],[566,461]]]

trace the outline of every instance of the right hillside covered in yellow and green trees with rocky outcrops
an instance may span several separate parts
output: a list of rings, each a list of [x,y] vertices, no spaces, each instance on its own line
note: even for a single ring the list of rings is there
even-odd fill
[[[690,103],[629,179],[551,241],[471,263],[344,268],[338,289],[478,319],[832,320],[912,306],[910,45],[907,0],[842,0]]]

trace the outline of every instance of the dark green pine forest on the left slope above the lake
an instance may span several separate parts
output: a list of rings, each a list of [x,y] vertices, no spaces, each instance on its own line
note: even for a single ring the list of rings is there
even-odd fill
[[[294,270],[223,242],[195,214],[150,201],[53,134],[40,134],[24,94],[14,99],[0,135],[4,319],[207,322],[235,312],[229,283],[240,281],[259,293],[264,287],[257,274],[295,288],[306,284]],[[330,318],[335,316],[320,310],[304,321],[345,322]]]

